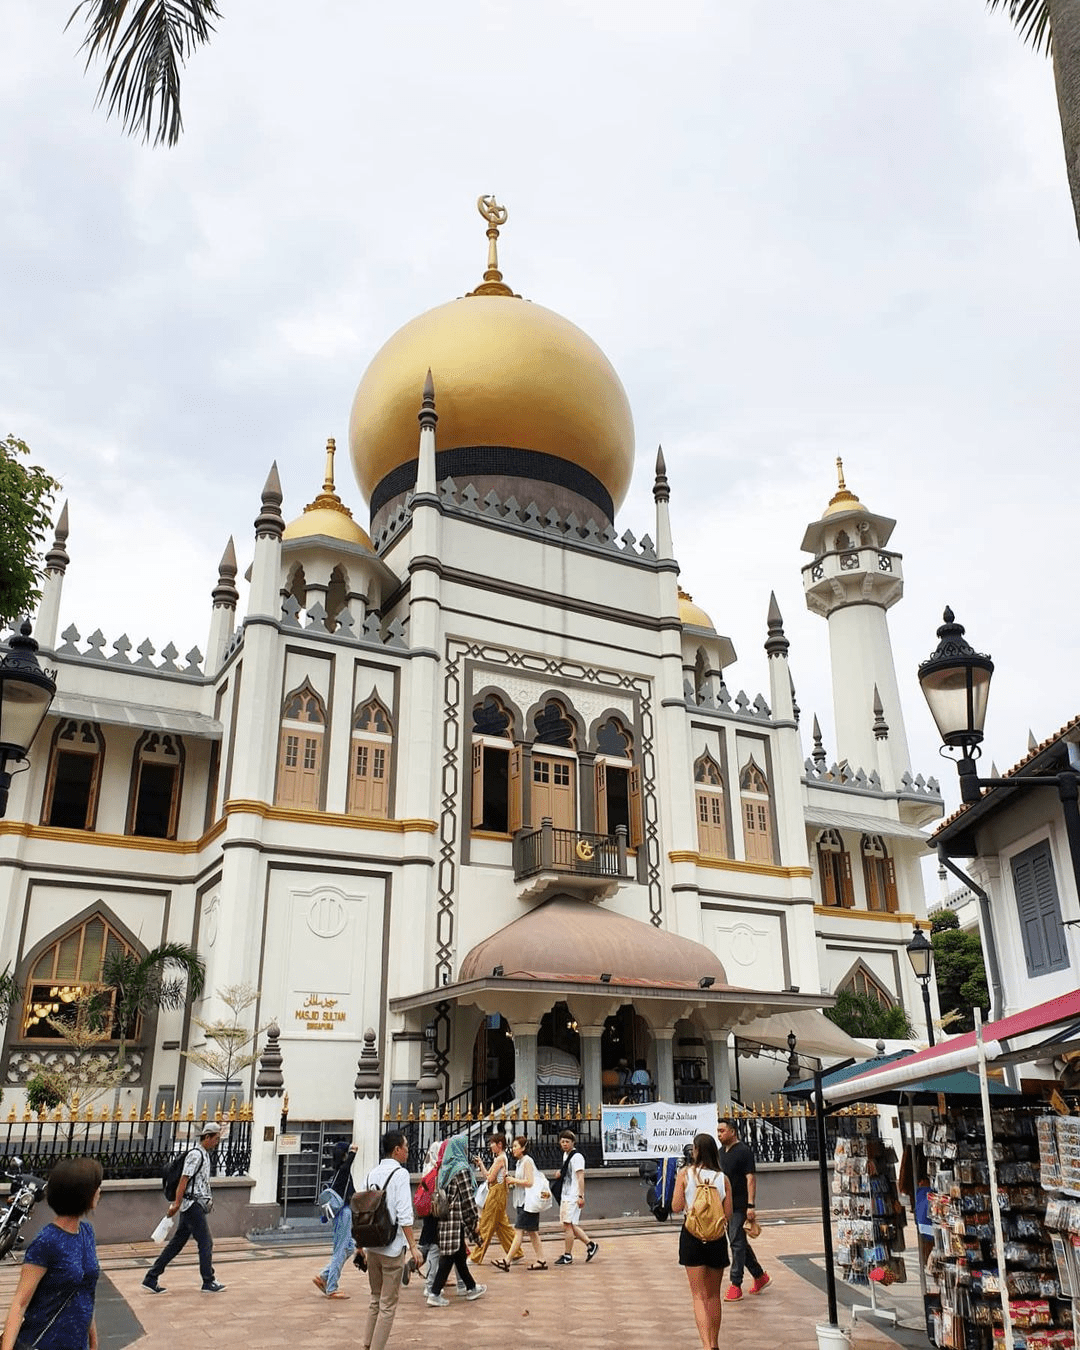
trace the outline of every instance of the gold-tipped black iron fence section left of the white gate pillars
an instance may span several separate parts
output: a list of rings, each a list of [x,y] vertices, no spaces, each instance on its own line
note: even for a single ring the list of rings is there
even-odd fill
[[[211,1174],[243,1176],[251,1166],[251,1108],[219,1111],[212,1119],[221,1125],[221,1138]],[[159,1179],[171,1157],[198,1143],[205,1120],[192,1110],[132,1112],[127,1118],[108,1110],[94,1114],[92,1107],[47,1116],[16,1116],[12,1111],[0,1119],[0,1157],[7,1168],[22,1158],[20,1170],[35,1176],[46,1176],[61,1158],[90,1157],[101,1164],[107,1181]]]

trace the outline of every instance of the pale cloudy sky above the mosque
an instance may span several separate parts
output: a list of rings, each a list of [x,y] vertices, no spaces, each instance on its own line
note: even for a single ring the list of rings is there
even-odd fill
[[[68,5],[0,7],[0,436],[70,504],[61,628],[205,649],[271,460],[290,518],[356,383],[500,261],[583,328],[637,433],[655,535],[767,691],[770,591],[806,752],[834,757],[803,531],[848,486],[898,524],[913,771],[952,767],[915,680],[945,603],[996,662],[986,760],[1080,711],[1072,622],[1080,246],[1049,61],[981,0],[221,0],[174,150],[94,108]],[[366,509],[346,455],[339,490]],[[1069,504],[1073,502],[1071,506]],[[243,602],[242,602],[243,603]]]

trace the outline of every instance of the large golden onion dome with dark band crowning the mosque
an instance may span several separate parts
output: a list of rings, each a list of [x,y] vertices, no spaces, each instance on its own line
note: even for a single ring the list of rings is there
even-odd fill
[[[514,296],[491,258],[481,293],[405,324],[360,381],[348,443],[373,513],[413,485],[405,466],[417,458],[428,370],[440,477],[450,473],[459,485],[474,473],[540,478],[598,504],[609,497],[612,508],[626,493],[633,418],[612,363],[570,320]],[[501,458],[451,454],[486,447]]]

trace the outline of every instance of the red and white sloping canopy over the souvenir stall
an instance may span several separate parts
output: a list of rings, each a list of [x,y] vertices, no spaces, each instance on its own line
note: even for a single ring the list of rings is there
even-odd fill
[[[1080,1022],[1080,990],[1013,1013],[998,1022],[987,1022],[983,1027],[987,1061],[1010,1064],[1076,1049],[1080,1031],[1077,1022]],[[1062,1029],[1061,1033],[1048,1037],[1054,1027]],[[871,1065],[855,1077],[834,1083],[825,1089],[825,1100],[833,1104],[880,1100],[878,1092],[882,1089],[917,1083],[932,1075],[969,1069],[977,1058],[975,1031],[967,1031],[964,1035],[954,1035],[940,1045],[909,1054],[899,1062]]]

